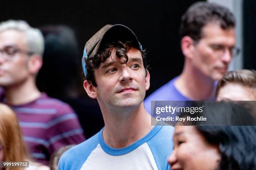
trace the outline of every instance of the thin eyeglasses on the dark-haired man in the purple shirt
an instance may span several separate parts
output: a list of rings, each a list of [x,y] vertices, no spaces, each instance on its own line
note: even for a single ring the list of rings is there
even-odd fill
[[[222,56],[226,49],[228,49],[231,56],[237,56],[240,53],[240,49],[237,47],[228,47],[221,44],[210,44],[208,46],[219,56]]]

